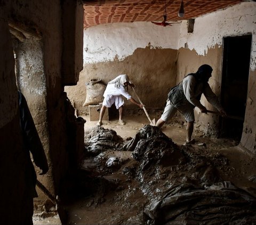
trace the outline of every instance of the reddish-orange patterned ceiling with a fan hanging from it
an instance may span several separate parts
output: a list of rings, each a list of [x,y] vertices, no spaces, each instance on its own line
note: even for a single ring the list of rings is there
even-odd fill
[[[178,17],[181,0],[92,0],[84,1],[84,28],[103,23],[193,19],[245,0],[183,0],[185,16]]]

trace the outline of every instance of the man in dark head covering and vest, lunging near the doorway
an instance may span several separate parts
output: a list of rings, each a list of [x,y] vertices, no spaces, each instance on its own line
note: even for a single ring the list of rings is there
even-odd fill
[[[212,73],[210,65],[201,65],[196,73],[189,73],[177,86],[173,87],[168,94],[167,103],[161,118],[156,122],[156,126],[161,128],[164,123],[171,119],[177,110],[187,121],[187,144],[193,144],[191,139],[194,130],[194,108],[198,107],[202,113],[207,109],[200,102],[201,95],[211,103],[221,115],[226,116],[226,112],[221,106],[218,97],[213,93],[208,81]]]

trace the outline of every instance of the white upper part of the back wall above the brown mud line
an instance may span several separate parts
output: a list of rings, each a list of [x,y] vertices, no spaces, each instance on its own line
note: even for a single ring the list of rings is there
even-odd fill
[[[177,49],[180,24],[110,23],[84,30],[84,67],[89,63],[122,61],[137,48]]]

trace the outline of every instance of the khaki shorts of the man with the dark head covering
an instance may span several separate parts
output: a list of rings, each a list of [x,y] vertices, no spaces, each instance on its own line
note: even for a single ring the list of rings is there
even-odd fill
[[[171,119],[175,113],[179,111],[185,118],[187,122],[193,122],[195,121],[195,115],[194,115],[194,108],[189,106],[178,106],[174,107],[170,100],[167,100],[166,106],[164,108],[164,112],[161,116],[161,119],[165,122],[167,122],[169,119]]]

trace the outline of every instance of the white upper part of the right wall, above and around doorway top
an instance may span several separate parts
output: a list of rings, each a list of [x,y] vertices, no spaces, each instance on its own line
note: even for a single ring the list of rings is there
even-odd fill
[[[188,46],[195,49],[198,55],[206,55],[208,49],[222,46],[226,36],[239,36],[251,33],[255,43],[256,3],[244,2],[226,10],[220,10],[201,16],[195,20],[194,32],[187,33],[187,21],[181,24],[179,48]],[[256,69],[256,45],[252,45],[251,70]]]

